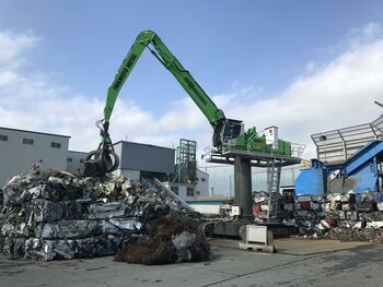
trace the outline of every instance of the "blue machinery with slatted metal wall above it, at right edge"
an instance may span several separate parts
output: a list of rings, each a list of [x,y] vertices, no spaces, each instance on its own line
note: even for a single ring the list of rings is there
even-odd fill
[[[313,134],[318,159],[302,170],[295,195],[382,192],[383,116],[367,124]]]

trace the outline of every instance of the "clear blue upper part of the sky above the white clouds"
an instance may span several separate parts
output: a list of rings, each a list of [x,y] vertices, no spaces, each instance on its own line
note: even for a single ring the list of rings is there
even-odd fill
[[[1,2],[0,27],[32,29],[43,39],[30,68],[97,97],[143,29],[156,32],[209,94],[239,83],[270,96],[306,61],[330,57],[321,48],[351,27],[383,20],[380,1]],[[124,94],[159,108],[183,91],[155,61],[143,55]]]

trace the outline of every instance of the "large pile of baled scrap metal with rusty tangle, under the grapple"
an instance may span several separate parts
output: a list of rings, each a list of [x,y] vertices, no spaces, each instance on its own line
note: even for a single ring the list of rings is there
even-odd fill
[[[198,224],[158,181],[34,170],[3,188],[0,251],[44,261],[117,252],[131,263],[197,261],[210,252]]]

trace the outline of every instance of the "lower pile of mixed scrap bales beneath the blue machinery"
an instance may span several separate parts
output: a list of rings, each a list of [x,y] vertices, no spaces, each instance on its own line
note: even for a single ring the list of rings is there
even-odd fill
[[[297,196],[293,218],[283,223],[314,238],[376,241],[383,237],[383,198],[380,193],[328,193]]]

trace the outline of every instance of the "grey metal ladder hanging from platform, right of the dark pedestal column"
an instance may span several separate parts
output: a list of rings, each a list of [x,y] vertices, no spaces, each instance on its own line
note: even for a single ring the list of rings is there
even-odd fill
[[[276,158],[267,163],[268,223],[277,220],[280,172],[281,165]]]

